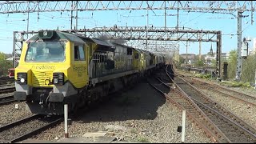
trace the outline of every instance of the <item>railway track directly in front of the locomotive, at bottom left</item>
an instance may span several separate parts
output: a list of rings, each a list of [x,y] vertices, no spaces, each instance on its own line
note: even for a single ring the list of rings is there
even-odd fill
[[[0,142],[20,142],[62,122],[62,116],[33,115],[0,127]]]

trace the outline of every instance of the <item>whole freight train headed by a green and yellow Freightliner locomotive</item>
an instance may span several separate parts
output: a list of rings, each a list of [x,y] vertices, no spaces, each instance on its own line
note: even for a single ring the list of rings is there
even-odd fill
[[[41,30],[23,43],[14,98],[34,114],[63,114],[64,103],[76,110],[163,65],[162,56],[146,50]]]

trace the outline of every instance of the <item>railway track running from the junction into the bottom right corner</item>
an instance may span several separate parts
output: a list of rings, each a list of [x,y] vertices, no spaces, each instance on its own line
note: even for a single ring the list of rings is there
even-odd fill
[[[200,90],[182,78],[175,77],[174,82],[183,90],[230,142],[256,142],[256,130],[232,114],[229,110],[218,105],[214,100],[202,94]]]

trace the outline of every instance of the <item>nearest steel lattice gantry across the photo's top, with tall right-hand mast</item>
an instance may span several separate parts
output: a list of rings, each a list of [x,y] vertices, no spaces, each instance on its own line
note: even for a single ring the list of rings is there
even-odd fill
[[[237,78],[241,75],[241,46],[243,12],[251,12],[251,24],[253,24],[256,2],[254,1],[3,1],[0,2],[0,14],[14,13],[40,13],[52,11],[71,11],[71,29],[73,18],[76,19],[75,29],[78,29],[78,13],[73,16],[73,11],[94,10],[185,10],[187,12],[202,12],[212,14],[232,14],[238,18],[238,66]],[[236,16],[237,14],[237,16]],[[166,16],[166,12],[165,12]],[[29,18],[28,18],[29,19]],[[166,19],[166,18],[165,18]],[[178,14],[177,14],[178,19]],[[165,24],[166,25],[166,24]],[[166,28],[166,27],[165,27]],[[148,26],[146,27],[148,29]],[[176,30],[179,29],[178,22]],[[27,32],[28,32],[27,28]],[[179,32],[177,31],[177,34]],[[147,35],[148,33],[146,33]],[[152,36],[151,36],[152,37]],[[221,39],[221,36],[219,39]],[[166,36],[165,40],[169,37]],[[174,38],[175,39],[175,38]],[[218,38],[217,38],[218,39]],[[170,40],[173,40],[170,38]],[[176,40],[179,41],[177,38]],[[193,41],[193,36],[189,41]],[[14,40],[15,41],[15,40]],[[146,38],[146,43],[147,43]],[[150,41],[150,40],[149,40]],[[202,42],[202,41],[200,41]],[[206,41],[208,42],[208,41]],[[210,42],[210,41],[209,41]],[[221,44],[219,44],[221,45]]]

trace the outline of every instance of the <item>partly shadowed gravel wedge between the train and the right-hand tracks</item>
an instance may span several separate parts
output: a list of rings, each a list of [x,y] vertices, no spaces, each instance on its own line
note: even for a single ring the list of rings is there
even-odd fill
[[[107,131],[126,142],[181,142],[177,132],[182,110],[171,106],[152,87],[139,83],[97,109],[73,119],[69,135],[80,138],[87,132]],[[64,137],[64,124],[46,130],[33,139],[57,141]],[[210,138],[186,118],[186,141],[209,143]]]

